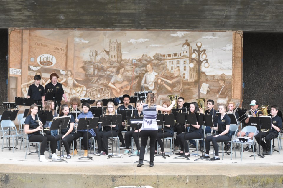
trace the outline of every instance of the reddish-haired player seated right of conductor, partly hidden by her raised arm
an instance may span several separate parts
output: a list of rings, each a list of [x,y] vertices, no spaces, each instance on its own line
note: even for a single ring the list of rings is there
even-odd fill
[[[169,101],[165,101],[162,104],[162,107],[167,108],[168,106],[170,106]],[[162,114],[166,115],[166,114],[172,114],[172,111],[169,110],[167,112],[165,111],[161,111]],[[164,138],[172,138],[174,135],[174,131],[173,131],[173,125],[164,125]],[[163,143],[163,131],[162,132],[158,132],[157,133],[157,137],[156,140],[158,142],[158,144],[160,145],[160,149],[161,149],[161,154],[165,154],[164,151],[164,143]],[[155,153],[157,154],[157,142],[155,142]]]

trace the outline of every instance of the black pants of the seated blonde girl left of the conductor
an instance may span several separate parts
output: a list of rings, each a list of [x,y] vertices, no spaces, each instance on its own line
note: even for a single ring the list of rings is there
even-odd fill
[[[118,132],[116,130],[112,130],[112,132],[113,132],[112,133],[113,137],[118,136]],[[103,151],[106,153],[106,155],[108,155],[108,138],[111,138],[111,130],[109,131],[103,130],[97,133],[97,147],[98,147],[97,152],[98,153]]]

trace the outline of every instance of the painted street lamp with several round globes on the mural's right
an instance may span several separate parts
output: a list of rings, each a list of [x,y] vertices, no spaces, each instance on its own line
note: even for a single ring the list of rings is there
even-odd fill
[[[209,67],[209,63],[208,63],[208,59],[206,59],[206,53],[205,53],[205,49],[200,50],[202,43],[198,42],[197,44],[198,50],[193,49],[193,53],[192,53],[192,61],[195,61],[198,64],[198,98],[200,98],[200,73],[201,73],[201,64],[205,61],[204,63],[204,67],[208,68]],[[203,60],[201,60],[203,59]],[[193,68],[195,66],[195,64],[193,62],[190,62],[189,67]]]

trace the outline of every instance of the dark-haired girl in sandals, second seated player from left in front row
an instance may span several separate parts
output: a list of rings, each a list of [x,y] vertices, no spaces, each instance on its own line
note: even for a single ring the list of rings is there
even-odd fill
[[[75,118],[73,117],[72,114],[69,113],[68,105],[62,104],[60,106],[59,116],[64,117],[64,116],[69,116],[69,115],[71,116],[71,119],[70,119],[68,127],[66,129],[61,129],[60,135],[55,136],[55,140],[62,139],[63,145],[67,153],[66,159],[71,159],[69,142],[71,142],[75,137],[74,135]],[[59,146],[59,148],[61,149],[61,146]]]

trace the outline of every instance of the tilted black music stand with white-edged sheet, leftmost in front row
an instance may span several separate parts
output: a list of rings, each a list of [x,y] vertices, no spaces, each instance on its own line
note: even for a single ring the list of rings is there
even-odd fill
[[[55,117],[53,118],[53,122],[51,124],[50,130],[58,130],[59,129],[59,150],[60,150],[60,159],[52,160],[51,162],[68,162],[61,158],[61,128],[67,129],[69,122],[70,122],[71,116],[61,116],[61,117]]]

